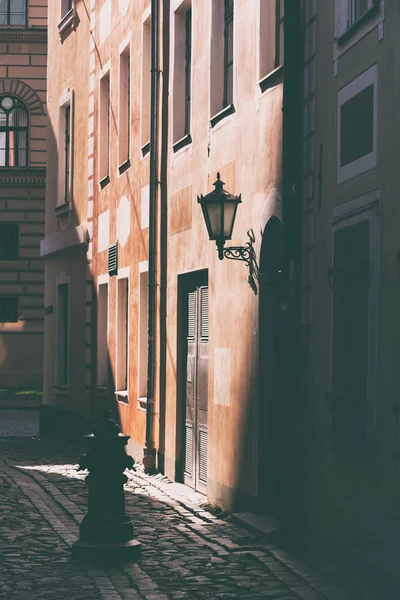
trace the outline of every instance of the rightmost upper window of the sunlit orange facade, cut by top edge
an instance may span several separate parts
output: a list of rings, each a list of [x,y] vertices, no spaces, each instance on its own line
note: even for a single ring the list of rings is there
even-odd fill
[[[260,79],[283,64],[283,17],[284,0],[260,0]]]

